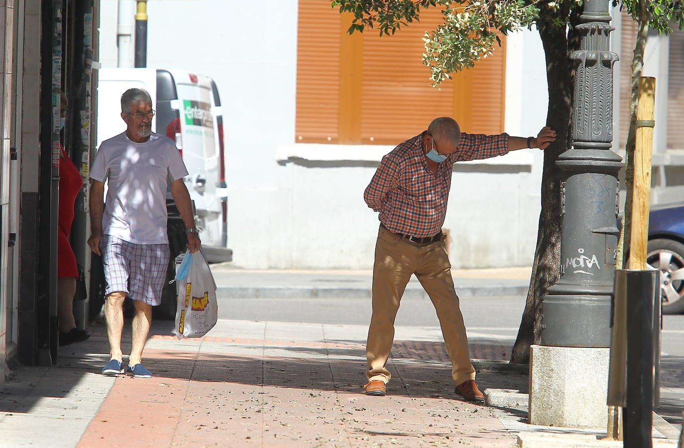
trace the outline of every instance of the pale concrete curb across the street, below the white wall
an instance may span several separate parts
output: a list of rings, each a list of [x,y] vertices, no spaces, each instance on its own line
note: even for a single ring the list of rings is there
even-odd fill
[[[527,296],[528,286],[482,285],[456,288],[458,296]],[[319,288],[316,286],[221,286],[216,298],[371,298],[371,288]],[[422,288],[406,288],[404,298],[428,298]]]

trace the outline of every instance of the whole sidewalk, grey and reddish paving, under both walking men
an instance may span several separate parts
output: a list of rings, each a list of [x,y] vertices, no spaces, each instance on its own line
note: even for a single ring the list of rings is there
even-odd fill
[[[21,367],[23,380],[0,395],[6,446],[497,448],[514,446],[525,428],[517,411],[458,399],[438,328],[397,327],[386,397],[363,393],[366,326],[220,320],[202,339],[181,341],[170,322],[153,330],[143,361],[153,378],[98,374],[102,327],[62,350],[59,367]],[[471,342],[491,359],[512,345],[486,334]],[[482,369],[477,382],[527,391],[524,370]]]

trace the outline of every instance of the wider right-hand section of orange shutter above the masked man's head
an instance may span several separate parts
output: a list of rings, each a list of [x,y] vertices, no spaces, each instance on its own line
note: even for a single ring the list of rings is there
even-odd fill
[[[464,132],[503,132],[505,47],[436,89],[421,61],[422,38],[440,23],[440,10],[430,8],[394,36],[364,33],[362,143],[400,143],[441,116],[454,117]]]

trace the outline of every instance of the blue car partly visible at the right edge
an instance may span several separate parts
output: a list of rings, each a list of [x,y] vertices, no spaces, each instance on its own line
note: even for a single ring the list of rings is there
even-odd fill
[[[646,264],[660,270],[663,313],[684,311],[684,203],[650,208]]]

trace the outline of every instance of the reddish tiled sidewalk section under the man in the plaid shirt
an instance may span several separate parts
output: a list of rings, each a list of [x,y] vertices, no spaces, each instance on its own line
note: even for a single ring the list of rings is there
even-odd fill
[[[492,410],[456,400],[434,328],[404,331],[415,341],[397,346],[399,356],[389,365],[391,395],[369,397],[361,387],[367,328],[268,322],[245,325],[252,332],[242,337],[243,324],[222,321],[222,331],[200,344],[171,335],[150,338],[144,362],[155,376],[116,378],[79,447],[105,447],[117,434],[137,447],[514,442]],[[421,350],[429,362],[410,358]]]

